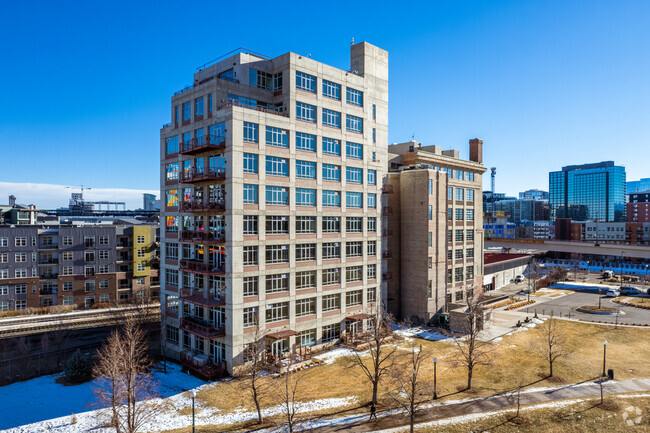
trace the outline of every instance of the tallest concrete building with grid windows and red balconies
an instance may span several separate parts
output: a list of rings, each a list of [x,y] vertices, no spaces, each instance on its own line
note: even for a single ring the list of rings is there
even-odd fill
[[[382,298],[388,53],[229,53],[161,130],[167,350],[232,373],[255,334],[276,360],[368,325]],[[198,360],[198,361],[197,361]]]

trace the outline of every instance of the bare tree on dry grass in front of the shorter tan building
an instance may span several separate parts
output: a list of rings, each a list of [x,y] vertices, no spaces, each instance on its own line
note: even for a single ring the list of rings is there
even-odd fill
[[[454,361],[467,370],[466,389],[468,390],[472,389],[474,369],[479,365],[488,365],[490,363],[490,353],[492,352],[492,346],[479,339],[479,334],[483,329],[484,314],[484,308],[479,301],[479,297],[480,292],[474,293],[472,287],[465,289],[465,299],[467,300],[463,323],[465,335],[462,338],[453,337],[458,348]]]

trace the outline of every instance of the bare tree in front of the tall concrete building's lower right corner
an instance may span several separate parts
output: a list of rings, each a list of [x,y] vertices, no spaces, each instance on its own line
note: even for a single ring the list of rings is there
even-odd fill
[[[372,385],[372,403],[377,404],[379,382],[390,370],[397,346],[386,344],[392,337],[390,325],[394,321],[392,316],[378,308],[371,320],[368,331],[360,337],[364,343],[368,344],[367,352],[370,360],[355,351],[354,356],[350,357],[350,367],[361,369]]]

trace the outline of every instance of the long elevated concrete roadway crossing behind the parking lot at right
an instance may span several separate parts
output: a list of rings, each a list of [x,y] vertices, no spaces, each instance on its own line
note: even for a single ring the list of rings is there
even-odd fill
[[[650,247],[645,245],[596,244],[592,242],[556,241],[553,239],[485,238],[485,248],[490,247],[592,254],[596,256],[630,257],[650,260]]]

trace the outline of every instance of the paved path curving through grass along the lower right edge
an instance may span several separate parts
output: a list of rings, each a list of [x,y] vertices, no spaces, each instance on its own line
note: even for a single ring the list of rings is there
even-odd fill
[[[605,382],[605,394],[620,394],[629,392],[650,391],[650,379],[630,379],[624,381]],[[554,388],[522,390],[521,404],[529,405],[544,403],[554,400],[575,399],[600,396],[600,385],[594,382],[564,385]],[[440,420],[460,415],[476,414],[481,412],[506,409],[516,406],[514,394],[500,394],[493,397],[482,397],[449,403],[433,403],[428,405],[416,417],[416,423]],[[322,426],[326,422],[330,425]],[[347,421],[347,422],[346,422]],[[396,427],[408,428],[408,418],[405,414],[395,411],[379,413],[377,421],[368,421],[368,415],[357,415],[348,418],[322,419],[314,424],[322,427],[308,427],[308,431],[319,433],[330,432],[377,432]]]

